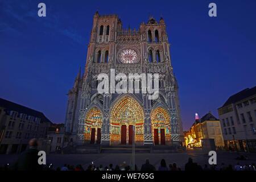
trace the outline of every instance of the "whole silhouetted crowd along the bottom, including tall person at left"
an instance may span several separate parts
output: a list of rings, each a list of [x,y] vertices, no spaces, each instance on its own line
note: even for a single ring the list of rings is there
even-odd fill
[[[92,162],[87,168],[83,168],[81,164],[77,166],[64,164],[62,167],[53,167],[52,164],[49,165],[39,165],[38,164],[38,146],[36,139],[31,139],[28,143],[29,147],[26,151],[19,155],[18,160],[13,164],[6,164],[1,167],[0,170],[14,170],[14,171],[181,171],[181,168],[177,166],[176,163],[169,164],[167,166],[166,160],[162,159],[158,168],[150,164],[150,161],[146,159],[146,162],[142,164],[141,168],[135,165],[135,168],[127,165],[123,162],[120,165],[109,164],[109,166],[95,166]],[[238,160],[238,159],[237,159]],[[245,157],[240,156],[239,160],[246,160]],[[188,162],[184,166],[184,171],[256,171],[255,164],[251,165],[241,165],[237,163],[235,166],[231,164],[225,165],[221,163],[220,166],[205,164],[204,167],[193,162],[192,158],[188,159]]]

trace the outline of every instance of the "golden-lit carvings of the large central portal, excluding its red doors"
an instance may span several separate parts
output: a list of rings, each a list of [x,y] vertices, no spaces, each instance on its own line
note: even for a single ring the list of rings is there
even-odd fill
[[[110,114],[110,140],[120,141],[121,126],[135,125],[135,141],[143,141],[144,113],[143,108],[132,97],[121,98],[114,106]]]

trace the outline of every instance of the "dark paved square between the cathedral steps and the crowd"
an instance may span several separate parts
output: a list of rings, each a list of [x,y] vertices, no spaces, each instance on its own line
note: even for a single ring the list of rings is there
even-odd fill
[[[236,160],[239,155],[247,156],[247,160]],[[204,164],[208,164],[209,156],[204,154],[202,151],[185,151],[183,153],[170,153],[170,154],[135,154],[135,163],[138,168],[145,162],[146,159],[150,160],[156,169],[159,167],[160,160],[165,159],[167,165],[170,163],[176,163],[178,167],[184,169],[185,163],[187,163],[188,158],[191,157],[194,162],[200,164],[202,167]],[[18,155],[0,155],[0,165],[3,166],[6,163],[13,163],[18,158]],[[51,154],[47,156],[47,163],[53,164],[53,166],[61,167],[64,163],[70,165],[81,164],[85,169],[92,162],[96,166],[102,164],[104,167],[108,166],[110,163],[115,166],[116,164],[121,164],[123,162],[126,164],[131,163],[131,154],[69,154],[69,155],[58,155]],[[226,165],[232,164],[233,166],[237,163],[240,164],[251,164],[256,163],[256,154],[247,153],[237,153],[237,152],[217,152],[217,165],[220,166],[221,163]]]

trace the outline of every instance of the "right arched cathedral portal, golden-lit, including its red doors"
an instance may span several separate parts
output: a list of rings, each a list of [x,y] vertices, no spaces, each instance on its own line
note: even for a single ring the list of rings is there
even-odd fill
[[[170,115],[163,107],[156,107],[151,113],[151,127],[154,144],[171,143]]]

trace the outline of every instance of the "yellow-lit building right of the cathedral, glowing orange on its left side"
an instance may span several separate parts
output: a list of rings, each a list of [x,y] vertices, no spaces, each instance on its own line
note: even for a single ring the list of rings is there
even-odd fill
[[[196,114],[195,123],[185,132],[185,145],[188,148],[202,147],[201,139],[207,138],[214,139],[216,147],[224,147],[220,120],[211,113],[205,114],[201,119]]]

